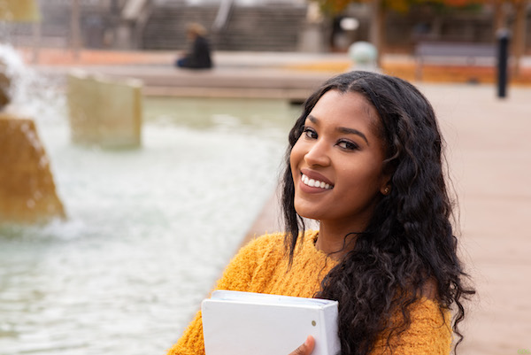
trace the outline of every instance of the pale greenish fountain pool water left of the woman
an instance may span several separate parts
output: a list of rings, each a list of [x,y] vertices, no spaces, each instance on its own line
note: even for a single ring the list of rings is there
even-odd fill
[[[39,112],[68,219],[0,226],[0,352],[164,353],[273,193],[298,109],[152,98],[142,148],[102,150],[71,143],[50,91],[13,104]]]

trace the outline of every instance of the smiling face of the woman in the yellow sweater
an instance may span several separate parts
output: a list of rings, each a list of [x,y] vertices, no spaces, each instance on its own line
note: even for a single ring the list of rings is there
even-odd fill
[[[358,93],[328,91],[304,122],[290,155],[295,209],[305,218],[361,231],[388,186],[380,119]]]

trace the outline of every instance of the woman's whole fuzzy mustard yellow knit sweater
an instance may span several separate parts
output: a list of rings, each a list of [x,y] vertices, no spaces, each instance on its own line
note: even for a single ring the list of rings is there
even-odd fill
[[[296,247],[290,268],[285,256],[283,234],[263,235],[253,240],[232,259],[216,289],[312,297],[319,290],[322,278],[336,264],[334,259],[315,248],[317,235],[317,231],[306,233],[304,242]],[[423,298],[412,309],[411,327],[400,338],[392,339],[393,354],[450,354],[449,324],[449,314],[443,317],[435,302]],[[378,342],[373,354],[389,354],[389,351],[382,352],[384,344],[383,339]],[[204,355],[201,311],[167,355]]]

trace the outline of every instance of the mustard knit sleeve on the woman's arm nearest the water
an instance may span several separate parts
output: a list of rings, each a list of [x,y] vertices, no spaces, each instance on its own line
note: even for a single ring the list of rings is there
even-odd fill
[[[255,269],[280,235],[265,235],[244,246],[226,267],[215,289],[249,290]],[[203,319],[201,311],[189,323],[181,339],[173,345],[167,355],[204,355]]]

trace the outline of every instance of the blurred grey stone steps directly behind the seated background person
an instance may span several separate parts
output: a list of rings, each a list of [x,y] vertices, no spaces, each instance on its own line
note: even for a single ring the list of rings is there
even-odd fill
[[[162,4],[152,10],[142,37],[145,50],[184,50],[186,26],[199,22],[212,27],[218,6],[204,4]],[[235,5],[227,26],[210,35],[215,50],[295,51],[300,28],[306,16],[305,5]]]

